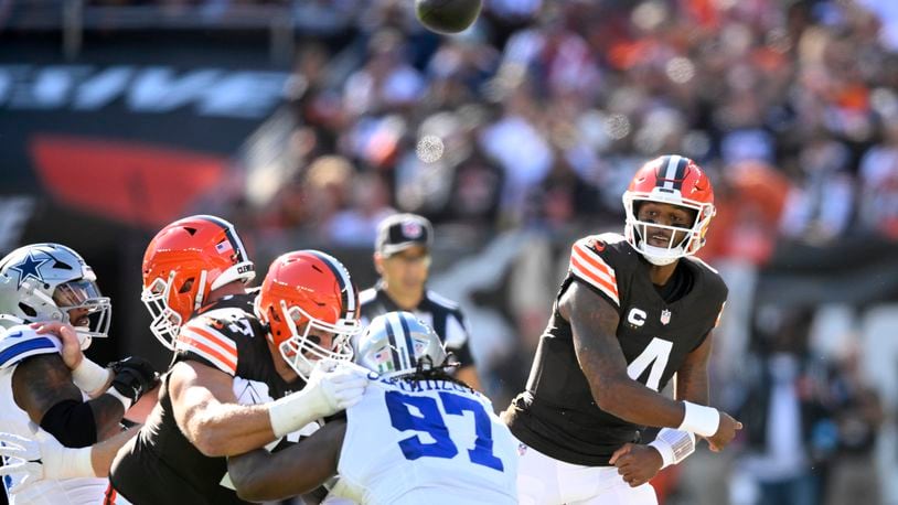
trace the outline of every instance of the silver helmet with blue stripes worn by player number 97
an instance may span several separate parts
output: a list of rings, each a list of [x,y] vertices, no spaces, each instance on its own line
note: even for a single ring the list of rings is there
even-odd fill
[[[437,333],[410,312],[374,318],[355,343],[355,362],[385,378],[437,368],[446,359]]]

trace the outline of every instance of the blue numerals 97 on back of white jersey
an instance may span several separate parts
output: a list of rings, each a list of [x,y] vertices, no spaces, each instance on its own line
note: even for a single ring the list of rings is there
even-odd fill
[[[502,460],[493,454],[493,430],[490,417],[483,406],[463,396],[440,391],[443,410],[450,416],[463,416],[469,411],[474,416],[474,448],[468,450],[471,463],[499,470],[504,466]],[[451,459],[458,454],[458,448],[449,437],[449,429],[442,420],[437,400],[426,396],[404,395],[399,391],[387,391],[386,408],[389,421],[399,431],[413,430],[429,434],[434,442],[425,443],[415,434],[399,441],[399,448],[407,460],[421,456]],[[413,413],[413,409],[415,412]]]

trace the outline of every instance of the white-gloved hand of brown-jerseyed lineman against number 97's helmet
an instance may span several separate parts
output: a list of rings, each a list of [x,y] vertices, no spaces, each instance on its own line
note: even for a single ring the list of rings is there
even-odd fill
[[[319,417],[332,416],[362,400],[367,370],[353,363],[322,361],[316,364],[303,391],[316,397]]]

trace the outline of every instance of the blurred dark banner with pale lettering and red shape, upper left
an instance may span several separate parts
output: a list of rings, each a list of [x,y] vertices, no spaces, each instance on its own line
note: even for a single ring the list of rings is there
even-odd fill
[[[267,64],[265,45],[106,39],[77,63],[45,41],[3,44],[3,192],[159,227],[233,172],[231,159],[281,103],[289,73]]]

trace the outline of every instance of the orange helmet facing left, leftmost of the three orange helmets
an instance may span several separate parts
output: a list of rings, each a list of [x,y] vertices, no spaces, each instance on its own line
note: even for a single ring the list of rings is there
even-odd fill
[[[140,300],[152,315],[150,331],[174,350],[181,324],[210,291],[256,277],[234,225],[215,216],[184,217],[162,228],[143,254]]]

